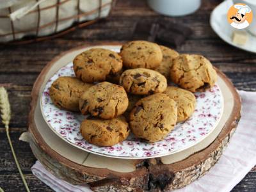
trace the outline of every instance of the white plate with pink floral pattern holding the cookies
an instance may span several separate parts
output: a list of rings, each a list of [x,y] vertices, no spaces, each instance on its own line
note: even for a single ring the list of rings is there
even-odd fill
[[[101,156],[145,159],[179,152],[204,140],[218,124],[223,111],[223,97],[216,84],[211,90],[195,93],[195,112],[186,122],[177,124],[163,141],[144,143],[136,140],[131,134],[127,140],[113,147],[98,147],[84,140],[79,132],[79,125],[86,116],[61,110],[52,104],[49,88],[52,82],[60,76],[74,76],[72,63],[60,68],[45,85],[41,97],[41,109],[45,121],[63,140],[82,150]]]

